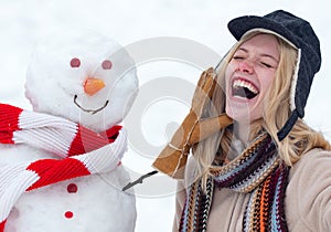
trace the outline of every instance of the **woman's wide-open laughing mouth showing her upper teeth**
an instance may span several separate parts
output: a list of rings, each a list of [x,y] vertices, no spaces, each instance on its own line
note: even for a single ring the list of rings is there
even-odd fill
[[[259,94],[258,88],[250,82],[236,78],[232,83],[232,95],[252,99]]]

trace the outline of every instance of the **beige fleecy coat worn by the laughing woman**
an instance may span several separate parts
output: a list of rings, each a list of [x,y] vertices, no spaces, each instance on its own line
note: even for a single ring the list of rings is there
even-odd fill
[[[183,182],[179,182],[178,188],[173,232],[178,231],[185,200]],[[207,232],[242,231],[248,198],[248,193],[215,189]],[[331,231],[330,151],[313,149],[291,168],[285,208],[290,232]]]

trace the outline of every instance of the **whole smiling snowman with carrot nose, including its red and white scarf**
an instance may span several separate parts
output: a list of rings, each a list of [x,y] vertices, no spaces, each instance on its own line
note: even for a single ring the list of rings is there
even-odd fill
[[[129,232],[136,200],[120,125],[132,59],[94,32],[52,36],[28,70],[32,110],[0,104],[0,232]]]

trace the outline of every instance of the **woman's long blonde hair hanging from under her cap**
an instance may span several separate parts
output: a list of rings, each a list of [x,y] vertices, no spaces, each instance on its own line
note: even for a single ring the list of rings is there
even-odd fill
[[[203,117],[212,117],[225,112],[225,94],[223,92],[225,83],[225,70],[236,50],[247,40],[261,32],[252,32],[238,41],[225,55],[217,68],[217,86],[213,93],[210,106],[204,112]],[[300,157],[312,148],[331,150],[330,144],[320,133],[310,128],[302,119],[298,119],[289,135],[279,141],[277,133],[285,125],[290,115],[290,87],[297,65],[298,51],[284,40],[274,35],[279,44],[280,61],[276,71],[276,77],[271,84],[267,97],[264,102],[263,118],[254,122],[250,126],[249,138],[254,138],[261,128],[266,129],[277,144],[279,157],[288,165],[292,166]],[[215,161],[216,152],[226,156],[229,150],[233,133],[225,128],[195,146],[193,177],[196,181],[202,178],[203,187],[210,173],[210,168]],[[192,171],[192,170],[191,170]]]

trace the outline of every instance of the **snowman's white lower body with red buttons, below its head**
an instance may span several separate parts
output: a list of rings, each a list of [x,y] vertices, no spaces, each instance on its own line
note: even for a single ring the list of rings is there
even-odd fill
[[[1,145],[0,150],[6,154],[1,156],[0,166],[52,157],[25,145]],[[4,232],[135,231],[135,197],[120,189],[129,181],[128,172],[118,166],[108,173],[28,191],[9,214]]]

